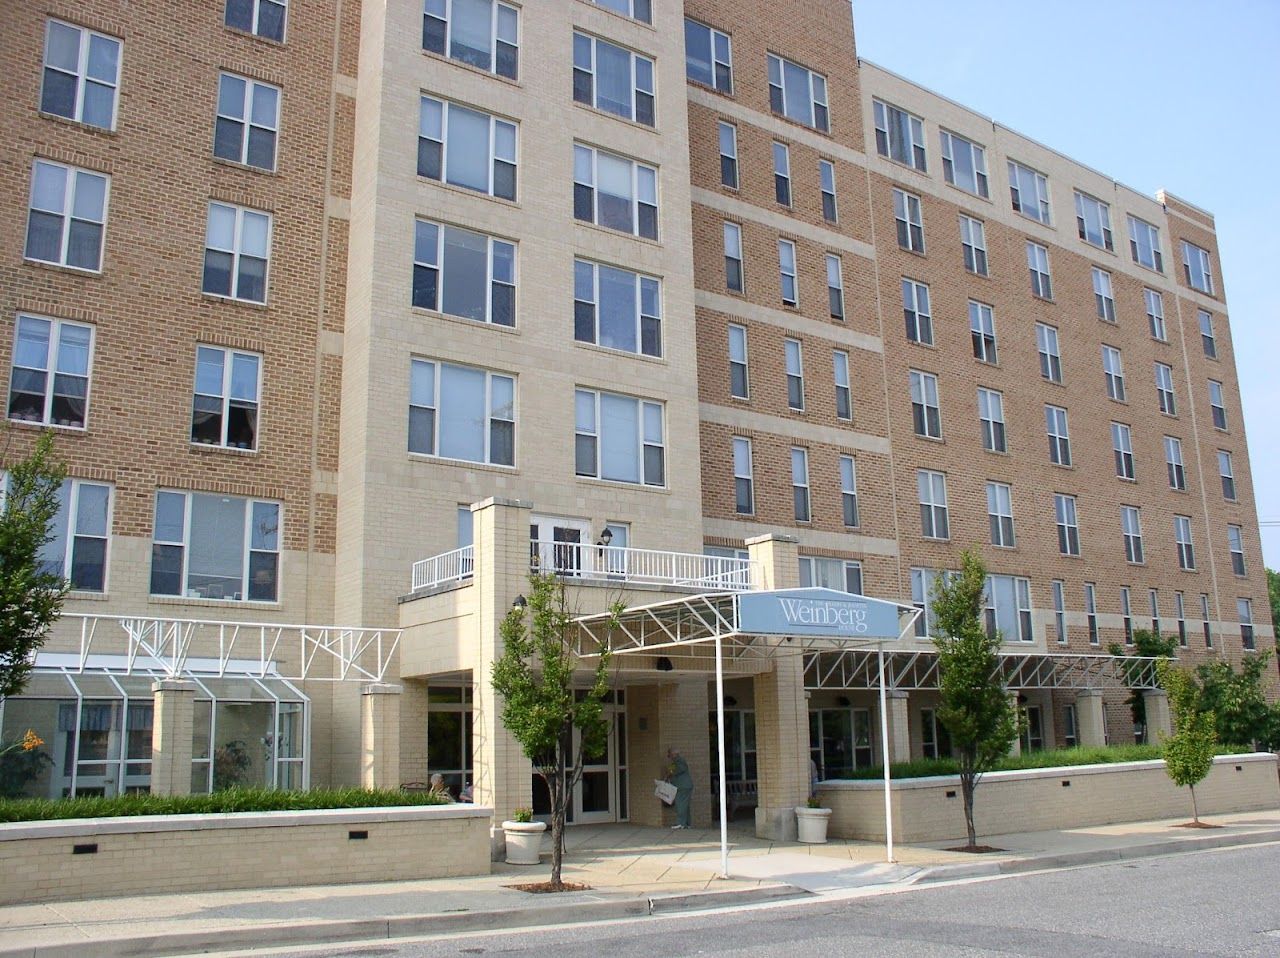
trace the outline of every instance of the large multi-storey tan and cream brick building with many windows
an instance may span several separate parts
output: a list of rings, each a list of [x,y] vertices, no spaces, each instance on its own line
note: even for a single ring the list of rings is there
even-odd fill
[[[536,804],[486,680],[530,542],[584,612],[923,608],[977,547],[1028,662],[1153,619],[1190,661],[1270,644],[1212,216],[860,61],[845,3],[5,23],[4,456],[47,426],[72,476],[69,615],[0,727],[56,753],[31,790],[439,771]],[[626,662],[579,821],[657,821],[667,744],[705,789],[707,669]],[[726,690],[778,834],[809,758],[882,759],[870,686],[801,671]],[[1123,695],[1011,692],[1025,747],[1133,735]],[[931,702],[893,692],[892,757],[945,751]]]

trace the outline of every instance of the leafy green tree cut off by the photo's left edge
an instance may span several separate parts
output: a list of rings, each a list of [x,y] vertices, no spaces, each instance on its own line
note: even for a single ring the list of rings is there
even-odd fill
[[[0,697],[26,686],[32,653],[49,637],[67,594],[67,581],[40,564],[67,476],[54,457],[52,434],[41,434],[31,455],[8,473],[0,506]]]

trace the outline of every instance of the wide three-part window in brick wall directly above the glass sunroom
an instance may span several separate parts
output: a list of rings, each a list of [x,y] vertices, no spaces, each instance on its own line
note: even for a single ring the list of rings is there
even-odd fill
[[[152,596],[276,602],[279,581],[280,503],[156,493]]]

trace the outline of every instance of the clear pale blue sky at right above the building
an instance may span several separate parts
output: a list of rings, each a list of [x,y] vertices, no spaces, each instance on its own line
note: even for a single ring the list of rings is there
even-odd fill
[[[1262,548],[1280,569],[1280,0],[854,0],[854,33],[868,60],[1215,215],[1258,516],[1277,523]]]

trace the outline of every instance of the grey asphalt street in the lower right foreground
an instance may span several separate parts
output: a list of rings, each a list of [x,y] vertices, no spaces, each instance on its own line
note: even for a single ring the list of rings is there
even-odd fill
[[[1280,845],[918,886],[851,900],[275,954],[1275,958],[1280,955]]]

